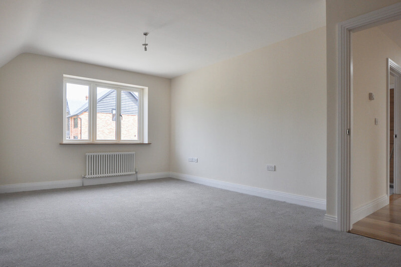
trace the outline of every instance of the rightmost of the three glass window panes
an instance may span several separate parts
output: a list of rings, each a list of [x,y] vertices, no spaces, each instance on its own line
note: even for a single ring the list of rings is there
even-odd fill
[[[121,91],[121,140],[138,140],[138,93]]]

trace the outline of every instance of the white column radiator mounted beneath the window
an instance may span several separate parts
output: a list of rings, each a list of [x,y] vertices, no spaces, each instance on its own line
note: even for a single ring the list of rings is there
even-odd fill
[[[85,178],[135,173],[135,152],[86,153]]]

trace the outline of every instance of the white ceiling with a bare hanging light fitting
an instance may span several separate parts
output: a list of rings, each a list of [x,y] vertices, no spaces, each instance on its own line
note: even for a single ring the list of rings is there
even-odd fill
[[[172,78],[325,17],[325,0],[0,0],[0,67],[28,52]]]

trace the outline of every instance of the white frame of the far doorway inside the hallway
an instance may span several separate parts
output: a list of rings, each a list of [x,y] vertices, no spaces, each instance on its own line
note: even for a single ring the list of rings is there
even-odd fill
[[[396,64],[391,59],[387,59],[387,93],[390,91],[390,75],[394,77],[394,134],[399,135],[398,138],[394,138],[394,194],[401,194],[401,66]],[[389,102],[389,97],[387,99]],[[387,134],[388,136],[388,134]],[[388,144],[388,142],[387,142]],[[390,149],[390,148],[389,148]],[[388,154],[388,153],[387,153]],[[387,164],[389,166],[389,162]],[[390,177],[388,175],[388,185],[390,183]],[[389,193],[387,193],[389,195]]]

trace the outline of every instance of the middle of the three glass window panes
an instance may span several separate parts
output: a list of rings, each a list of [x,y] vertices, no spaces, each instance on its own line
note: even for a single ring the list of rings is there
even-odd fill
[[[113,120],[116,90],[97,87],[96,95],[96,139],[116,140],[116,121]]]

